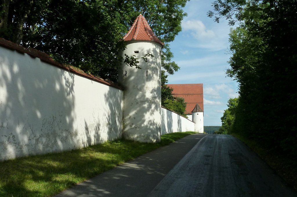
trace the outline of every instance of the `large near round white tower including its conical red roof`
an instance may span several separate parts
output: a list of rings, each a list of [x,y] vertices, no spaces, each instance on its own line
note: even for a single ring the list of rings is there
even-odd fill
[[[161,132],[161,50],[164,46],[139,15],[123,37],[127,44],[119,55],[139,58],[141,69],[119,65],[119,84],[124,87],[124,139],[155,143]],[[145,62],[145,54],[152,54]]]

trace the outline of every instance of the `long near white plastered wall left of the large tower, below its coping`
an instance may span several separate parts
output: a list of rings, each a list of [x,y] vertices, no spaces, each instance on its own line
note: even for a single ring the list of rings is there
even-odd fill
[[[123,91],[0,47],[0,160],[121,138]]]

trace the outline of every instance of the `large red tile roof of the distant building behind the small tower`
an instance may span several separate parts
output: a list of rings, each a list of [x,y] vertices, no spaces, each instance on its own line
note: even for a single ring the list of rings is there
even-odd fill
[[[191,114],[196,104],[203,111],[203,84],[167,84],[173,88],[175,97],[183,97],[187,102],[186,114]]]

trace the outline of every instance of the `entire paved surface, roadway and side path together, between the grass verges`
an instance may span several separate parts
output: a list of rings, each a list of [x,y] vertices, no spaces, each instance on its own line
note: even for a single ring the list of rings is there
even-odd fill
[[[56,197],[297,197],[241,141],[229,135],[189,135]]]

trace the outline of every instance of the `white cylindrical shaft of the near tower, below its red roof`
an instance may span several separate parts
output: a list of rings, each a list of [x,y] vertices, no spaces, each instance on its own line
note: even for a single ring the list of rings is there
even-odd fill
[[[129,47],[131,54],[137,50],[136,58],[147,53],[154,57],[148,57],[148,62],[139,59],[141,69],[125,64],[119,69],[119,83],[125,88],[123,137],[140,142],[158,142],[161,132],[161,63],[156,61],[160,53],[151,45],[147,49],[138,43],[129,44],[128,53]]]

